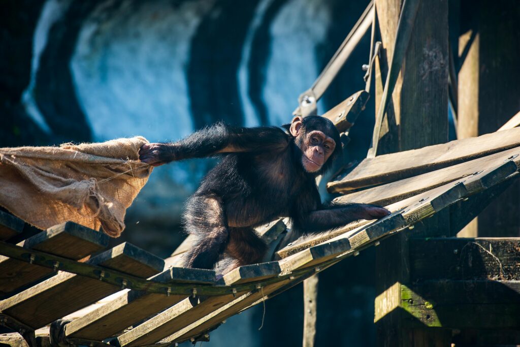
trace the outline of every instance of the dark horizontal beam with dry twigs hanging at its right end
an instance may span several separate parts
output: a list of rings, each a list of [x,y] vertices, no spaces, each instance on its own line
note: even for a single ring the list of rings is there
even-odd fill
[[[520,280],[520,238],[412,238],[410,278]]]

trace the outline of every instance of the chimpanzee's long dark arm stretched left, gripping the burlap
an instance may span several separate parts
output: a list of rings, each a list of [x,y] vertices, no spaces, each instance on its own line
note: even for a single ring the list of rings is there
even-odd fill
[[[276,127],[233,127],[215,123],[174,143],[142,145],[139,159],[160,165],[173,160],[210,157],[217,153],[253,152],[283,149],[288,136]]]

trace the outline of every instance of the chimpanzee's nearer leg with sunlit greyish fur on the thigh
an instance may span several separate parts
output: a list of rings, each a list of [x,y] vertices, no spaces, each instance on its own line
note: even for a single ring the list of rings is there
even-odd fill
[[[210,195],[191,197],[184,214],[184,223],[186,231],[196,237],[187,252],[186,267],[213,269],[229,241],[222,201]]]

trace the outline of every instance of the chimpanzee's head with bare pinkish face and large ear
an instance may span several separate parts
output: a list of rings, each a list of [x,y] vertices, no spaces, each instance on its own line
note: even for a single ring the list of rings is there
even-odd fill
[[[319,115],[296,116],[289,131],[302,152],[302,166],[308,173],[326,172],[334,159],[341,156],[340,133],[327,118]]]

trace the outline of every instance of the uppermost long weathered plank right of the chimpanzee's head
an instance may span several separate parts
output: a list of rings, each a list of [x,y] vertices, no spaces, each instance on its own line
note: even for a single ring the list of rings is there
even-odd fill
[[[427,146],[367,158],[340,181],[330,182],[331,192],[389,183],[431,172],[520,146],[520,128],[446,144]]]

